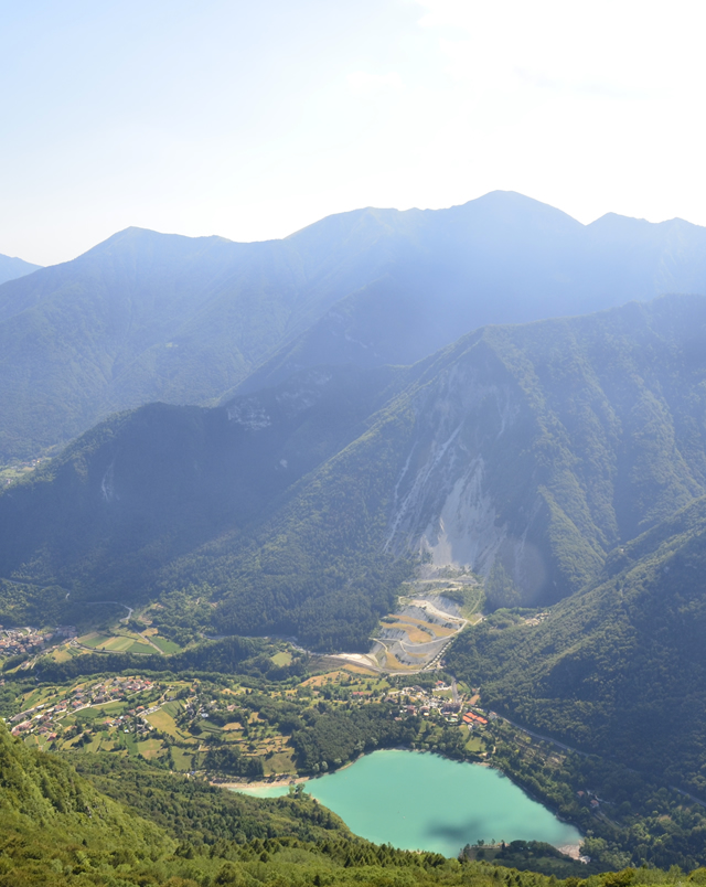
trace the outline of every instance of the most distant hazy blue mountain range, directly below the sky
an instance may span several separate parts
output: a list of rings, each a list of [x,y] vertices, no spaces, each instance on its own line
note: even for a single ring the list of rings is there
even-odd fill
[[[486,323],[706,292],[706,235],[584,226],[511,192],[359,210],[284,241],[128,228],[0,286],[0,462],[151,400],[224,402],[321,364],[409,364]]]

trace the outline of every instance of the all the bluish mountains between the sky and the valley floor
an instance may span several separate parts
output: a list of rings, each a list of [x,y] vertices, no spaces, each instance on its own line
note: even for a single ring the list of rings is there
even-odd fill
[[[81,435],[0,493],[0,621],[364,650],[421,562],[470,568],[454,673],[703,797],[705,250],[494,193],[4,284],[4,458]]]

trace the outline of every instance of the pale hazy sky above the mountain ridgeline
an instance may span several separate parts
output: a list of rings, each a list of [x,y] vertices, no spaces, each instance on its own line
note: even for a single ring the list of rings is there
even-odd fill
[[[0,253],[240,241],[520,191],[706,225],[706,9],[0,0]]]

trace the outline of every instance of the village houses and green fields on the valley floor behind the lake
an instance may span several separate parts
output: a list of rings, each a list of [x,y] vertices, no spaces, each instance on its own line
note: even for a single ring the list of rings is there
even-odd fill
[[[289,706],[290,716],[298,717],[314,699],[331,710],[387,703],[386,717],[426,722],[420,742],[434,745],[439,730],[456,727],[467,737],[463,745],[482,755],[480,734],[495,715],[479,708],[479,695],[471,687],[448,682],[446,676],[427,677],[402,685],[399,678],[364,672],[352,663],[289,687],[257,690],[237,680],[216,685],[139,673],[110,675],[30,690],[21,709],[9,716],[8,727],[13,736],[42,749],[115,750],[163,759],[186,772],[203,768],[212,748],[237,748],[243,760],[261,760],[265,777],[281,778],[296,773],[295,748],[289,731],[282,733],[271,719],[271,706]]]

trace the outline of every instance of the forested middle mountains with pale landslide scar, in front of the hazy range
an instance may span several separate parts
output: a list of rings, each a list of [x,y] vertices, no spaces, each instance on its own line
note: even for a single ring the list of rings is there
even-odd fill
[[[706,493],[705,415],[706,299],[489,327],[409,368],[98,426],[0,496],[0,576],[191,588],[218,633],[361,648],[416,556],[489,576],[494,606],[582,588]]]

